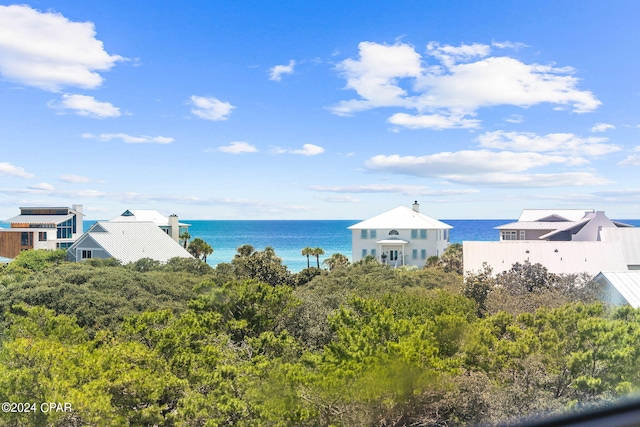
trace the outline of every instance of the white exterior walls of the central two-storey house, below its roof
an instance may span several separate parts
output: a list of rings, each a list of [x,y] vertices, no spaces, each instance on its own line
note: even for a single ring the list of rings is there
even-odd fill
[[[371,230],[367,230],[367,238],[362,238],[362,230],[351,230],[351,250],[353,262],[359,261],[363,258],[363,250],[366,250],[366,255],[371,255],[372,250],[375,250],[376,259],[382,262],[382,254],[387,254],[386,263],[390,265],[396,265],[395,261],[391,261],[389,257],[389,250],[397,250],[399,255],[403,250],[403,245],[398,244],[379,244],[380,240],[399,239],[408,242],[404,245],[404,265],[412,265],[416,267],[424,266],[425,261],[430,256],[439,256],[449,246],[448,237],[449,230],[441,229],[429,229],[427,231],[427,238],[420,238],[420,230],[417,231],[418,238],[412,238],[411,230],[394,229],[398,232],[397,235],[389,235],[390,229],[377,229],[375,230],[375,237],[371,237]],[[438,239],[439,237],[439,239]],[[417,251],[417,256],[413,258],[413,251]],[[426,251],[424,258],[422,257],[422,251]],[[400,259],[399,259],[400,260]],[[398,265],[402,265],[398,263]]]

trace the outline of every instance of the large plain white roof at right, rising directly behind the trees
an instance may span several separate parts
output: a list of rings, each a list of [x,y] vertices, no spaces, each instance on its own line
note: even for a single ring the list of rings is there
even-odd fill
[[[486,262],[493,274],[510,270],[516,262],[540,263],[556,274],[626,271],[620,242],[509,240],[463,242],[464,270],[481,271]]]

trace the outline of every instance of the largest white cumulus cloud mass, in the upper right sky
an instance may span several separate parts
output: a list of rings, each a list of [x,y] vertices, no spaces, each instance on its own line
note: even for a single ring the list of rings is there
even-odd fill
[[[477,127],[479,122],[468,117],[483,107],[550,103],[584,113],[601,104],[591,92],[577,88],[579,79],[571,67],[526,64],[490,54],[489,45],[432,42],[427,55],[439,64],[427,66],[413,46],[362,42],[357,59],[346,59],[337,66],[346,88],[359,97],[341,101],[330,110],[352,115],[379,107],[404,108],[415,110],[416,115],[398,113],[389,120],[413,129],[445,129]]]

